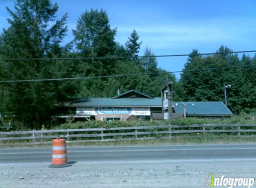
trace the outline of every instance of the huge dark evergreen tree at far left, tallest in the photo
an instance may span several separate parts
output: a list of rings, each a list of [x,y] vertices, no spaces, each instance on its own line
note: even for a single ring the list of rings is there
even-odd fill
[[[10,27],[0,37],[4,58],[45,58],[62,55],[63,37],[67,32],[65,14],[56,20],[58,5],[50,0],[17,0],[15,9],[7,8]],[[62,78],[70,67],[59,61],[19,60],[4,62],[2,80]],[[70,87],[71,86],[71,87]],[[74,93],[70,82],[16,82],[1,85],[5,91],[2,110],[31,128],[40,128],[58,98]]]

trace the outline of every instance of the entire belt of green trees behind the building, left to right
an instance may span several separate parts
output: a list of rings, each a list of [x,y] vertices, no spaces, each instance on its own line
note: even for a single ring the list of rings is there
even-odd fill
[[[226,46],[206,56],[193,49],[177,80],[158,67],[150,47],[140,48],[143,41],[136,30],[124,45],[115,41],[118,30],[102,9],[85,10],[72,30],[73,40],[62,45],[67,14],[56,19],[58,8],[50,0],[17,0],[14,10],[7,8],[10,26],[0,35],[2,118],[40,127],[56,102],[113,97],[117,87],[159,97],[167,81],[174,83],[175,101],[223,101],[223,84],[231,84],[230,109],[236,114],[255,110],[256,57],[239,58]]]

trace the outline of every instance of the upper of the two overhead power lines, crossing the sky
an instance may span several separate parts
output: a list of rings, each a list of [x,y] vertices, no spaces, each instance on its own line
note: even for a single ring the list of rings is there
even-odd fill
[[[220,53],[220,52],[199,53],[198,56],[217,55],[217,54],[232,54],[232,53],[252,53],[252,52],[256,52],[256,50],[224,52],[224,53]],[[190,54],[153,55],[153,56],[112,56],[112,57],[0,58],[0,61],[132,59],[132,58],[145,58],[145,57],[180,57],[180,56],[189,56],[189,55]]]

